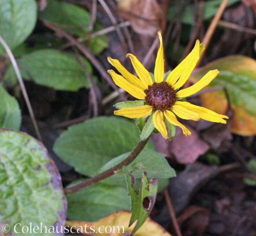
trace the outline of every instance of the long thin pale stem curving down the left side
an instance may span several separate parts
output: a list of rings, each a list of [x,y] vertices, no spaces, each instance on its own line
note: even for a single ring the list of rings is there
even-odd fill
[[[10,48],[9,48],[9,46],[6,44],[5,40],[1,37],[1,35],[0,35],[0,42],[3,45],[3,47],[5,48],[7,54],[8,54],[8,56],[9,56],[11,62],[12,62],[12,66],[13,66],[14,71],[16,73],[16,76],[18,78],[20,89],[22,90],[22,93],[23,93],[24,99],[26,101],[26,104],[27,104],[27,107],[28,107],[28,110],[29,110],[29,114],[30,114],[33,126],[35,128],[36,136],[37,136],[38,140],[42,141],[41,135],[40,135],[40,132],[39,132],[36,120],[35,120],[34,112],[33,112],[33,109],[32,109],[32,106],[30,104],[30,100],[29,100],[29,97],[28,97],[28,94],[27,94],[27,91],[26,91],[26,87],[25,87],[25,84],[23,82],[22,76],[20,75],[20,72],[19,72],[19,69],[18,69],[17,62],[16,62],[16,60],[15,60],[15,58],[14,58],[14,56],[13,56],[13,54],[12,54]]]

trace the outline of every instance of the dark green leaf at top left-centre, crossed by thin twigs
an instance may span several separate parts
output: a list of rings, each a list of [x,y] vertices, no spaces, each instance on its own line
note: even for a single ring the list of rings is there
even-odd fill
[[[58,12],[58,14],[56,14],[56,12]],[[90,33],[90,13],[74,4],[65,3],[63,1],[48,0],[46,9],[40,12],[39,17],[56,25],[59,29],[78,37],[85,37]],[[96,22],[94,25],[94,31],[99,31],[101,29],[102,26]],[[100,35],[90,39],[89,48],[96,54],[100,53],[108,46],[108,38],[105,35]]]

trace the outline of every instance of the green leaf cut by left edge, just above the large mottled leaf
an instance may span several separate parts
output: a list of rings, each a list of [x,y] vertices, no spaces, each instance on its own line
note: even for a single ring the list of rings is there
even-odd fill
[[[17,100],[0,84],[0,127],[19,130],[22,115]]]

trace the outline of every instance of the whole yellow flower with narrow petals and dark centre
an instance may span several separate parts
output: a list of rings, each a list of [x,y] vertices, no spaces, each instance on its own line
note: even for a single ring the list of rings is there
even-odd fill
[[[172,72],[169,73],[166,81],[164,81],[163,42],[160,32],[158,32],[158,35],[160,39],[160,48],[157,53],[154,71],[155,82],[136,56],[132,54],[126,55],[126,57],[131,59],[139,78],[127,71],[118,60],[108,57],[108,61],[111,65],[121,74],[118,75],[113,70],[108,71],[116,85],[135,98],[144,101],[144,105],[122,108],[115,111],[114,114],[128,118],[141,118],[153,113],[154,126],[165,139],[168,138],[168,134],[164,119],[169,123],[182,128],[183,134],[191,135],[191,132],[177,120],[175,115],[186,120],[198,121],[202,118],[204,120],[225,124],[226,120],[223,118],[228,119],[227,116],[217,114],[211,110],[186,101],[181,101],[182,98],[193,95],[203,89],[219,74],[218,70],[209,71],[197,83],[191,85],[189,88],[179,90],[196,67],[199,56],[204,50],[204,46],[197,40],[194,49]]]

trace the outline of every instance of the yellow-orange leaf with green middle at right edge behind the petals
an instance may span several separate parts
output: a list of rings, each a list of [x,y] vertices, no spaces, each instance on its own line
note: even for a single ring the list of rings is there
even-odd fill
[[[256,134],[256,60],[246,56],[228,56],[213,61],[193,74],[196,82],[206,72],[218,69],[219,75],[212,80],[208,88],[225,87],[234,110],[231,131],[239,135]],[[201,95],[202,106],[225,114],[227,99],[223,91]]]

